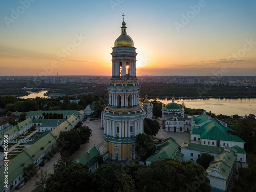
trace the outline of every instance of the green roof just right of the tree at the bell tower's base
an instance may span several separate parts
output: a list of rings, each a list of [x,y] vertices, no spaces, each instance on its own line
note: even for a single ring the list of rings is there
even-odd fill
[[[176,141],[169,137],[165,139],[163,143],[157,146],[157,152],[146,159],[146,161],[156,161],[156,160],[164,160],[164,159],[174,159],[181,161],[184,156],[181,153],[181,148]]]

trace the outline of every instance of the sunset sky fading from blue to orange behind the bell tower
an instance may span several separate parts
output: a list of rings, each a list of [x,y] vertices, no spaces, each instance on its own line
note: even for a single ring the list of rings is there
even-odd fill
[[[254,76],[256,1],[0,1],[0,76],[109,75],[121,34],[137,75]]]

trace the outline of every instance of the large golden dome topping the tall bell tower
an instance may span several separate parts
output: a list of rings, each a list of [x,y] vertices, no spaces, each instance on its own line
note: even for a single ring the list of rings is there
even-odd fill
[[[114,47],[121,47],[121,46],[127,46],[127,47],[134,47],[134,42],[129,35],[126,33],[126,23],[123,21],[122,27],[121,27],[121,35],[115,40]]]

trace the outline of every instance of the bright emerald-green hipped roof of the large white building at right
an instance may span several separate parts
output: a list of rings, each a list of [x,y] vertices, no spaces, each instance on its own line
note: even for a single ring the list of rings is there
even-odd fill
[[[191,131],[191,134],[199,134],[201,139],[236,141],[244,143],[244,141],[237,135],[229,134],[228,130],[231,129],[224,127],[215,121],[211,121],[199,128],[194,128]]]

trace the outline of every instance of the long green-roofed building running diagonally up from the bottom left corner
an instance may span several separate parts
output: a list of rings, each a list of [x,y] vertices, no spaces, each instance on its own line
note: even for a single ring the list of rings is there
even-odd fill
[[[47,155],[53,147],[56,146],[56,140],[62,131],[69,131],[79,122],[76,115],[72,115],[65,122],[61,123],[56,129],[46,134],[44,137],[36,141],[29,148],[8,162],[8,181],[5,187],[5,165],[0,168],[0,191],[9,192],[12,188],[19,186],[24,182],[23,168],[30,163],[39,164],[43,157]],[[5,162],[4,162],[5,163]]]

